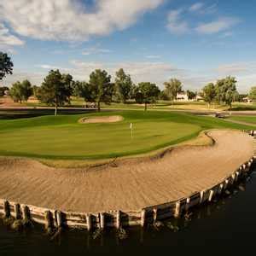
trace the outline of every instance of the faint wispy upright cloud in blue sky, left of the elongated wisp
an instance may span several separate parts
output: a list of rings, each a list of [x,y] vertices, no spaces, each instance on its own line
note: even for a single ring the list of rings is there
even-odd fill
[[[169,12],[167,18],[167,29],[173,34],[182,35],[189,32],[187,21],[181,20],[183,9],[175,9]]]

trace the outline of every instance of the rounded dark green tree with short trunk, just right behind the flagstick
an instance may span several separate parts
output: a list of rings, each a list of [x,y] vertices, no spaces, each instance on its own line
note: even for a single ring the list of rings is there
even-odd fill
[[[136,102],[145,104],[144,110],[147,110],[147,105],[156,101],[160,94],[160,90],[156,84],[143,82],[138,84]]]

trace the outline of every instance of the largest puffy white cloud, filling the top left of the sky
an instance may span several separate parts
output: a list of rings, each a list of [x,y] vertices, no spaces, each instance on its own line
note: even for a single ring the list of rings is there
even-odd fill
[[[124,30],[163,0],[0,0],[0,20],[26,37],[84,41]]]

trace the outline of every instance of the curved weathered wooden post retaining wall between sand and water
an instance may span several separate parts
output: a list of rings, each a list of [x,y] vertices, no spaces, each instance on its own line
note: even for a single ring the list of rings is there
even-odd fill
[[[256,131],[244,131],[249,135],[256,135]],[[212,188],[202,191],[195,191],[186,198],[178,201],[170,201],[161,205],[148,206],[143,209],[131,212],[111,211],[111,212],[61,212],[44,207],[34,207],[31,205],[19,204],[14,201],[0,199],[0,214],[3,218],[30,219],[35,223],[44,224],[45,228],[73,227],[87,230],[105,229],[115,227],[119,229],[125,226],[141,225],[142,227],[165,218],[178,218],[183,212],[191,207],[198,206],[204,202],[212,201],[216,195],[221,195],[240,177],[244,177],[250,171],[253,164],[253,156],[241,165],[229,177],[225,177]]]

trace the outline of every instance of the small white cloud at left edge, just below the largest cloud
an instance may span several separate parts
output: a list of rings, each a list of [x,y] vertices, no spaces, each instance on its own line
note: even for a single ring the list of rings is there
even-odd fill
[[[9,32],[9,29],[0,23],[0,47],[14,53],[12,47],[25,44],[20,38],[15,37]]]

